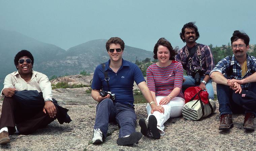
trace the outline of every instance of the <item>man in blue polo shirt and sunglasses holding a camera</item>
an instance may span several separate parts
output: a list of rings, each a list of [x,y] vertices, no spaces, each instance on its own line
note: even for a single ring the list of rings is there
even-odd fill
[[[116,121],[120,127],[118,145],[133,145],[142,137],[140,132],[135,131],[136,115],[132,91],[134,81],[150,103],[152,113],[154,111],[164,112],[163,107],[154,104],[139,67],[122,58],[124,46],[121,38],[110,38],[106,42],[106,50],[110,59],[104,65],[98,65],[94,71],[92,97],[99,104],[96,108],[93,144],[103,142],[106,138],[108,123],[111,121]],[[102,97],[100,90],[115,94],[115,99],[110,94]]]

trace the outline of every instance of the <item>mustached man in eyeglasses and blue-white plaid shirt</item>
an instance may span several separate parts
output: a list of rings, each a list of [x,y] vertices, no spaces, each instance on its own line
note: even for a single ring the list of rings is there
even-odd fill
[[[246,33],[234,31],[231,37],[232,56],[220,60],[211,71],[211,78],[217,83],[219,130],[233,127],[232,113],[245,113],[243,127],[254,131],[256,114],[256,58],[249,56],[250,38]]]

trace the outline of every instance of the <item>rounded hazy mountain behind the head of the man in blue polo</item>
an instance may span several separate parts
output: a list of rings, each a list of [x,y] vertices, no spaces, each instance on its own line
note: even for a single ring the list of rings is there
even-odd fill
[[[40,68],[44,70],[49,67],[54,69],[48,71],[49,75],[77,74],[83,70],[93,72],[98,64],[109,59],[105,48],[106,41],[105,39],[92,40],[69,48],[65,54],[60,55],[60,58],[46,62]],[[152,58],[152,56],[153,52],[151,51],[129,46],[125,46],[123,53],[123,58],[131,62],[135,62],[136,57],[138,60],[144,60],[145,58]]]

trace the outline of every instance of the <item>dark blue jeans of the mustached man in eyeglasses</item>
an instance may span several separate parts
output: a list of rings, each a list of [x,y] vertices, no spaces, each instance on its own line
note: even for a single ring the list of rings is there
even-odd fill
[[[217,97],[219,101],[219,111],[220,114],[232,114],[232,113],[254,113],[256,115],[256,109],[253,107],[251,110],[246,110],[241,105],[238,105],[237,102],[234,102],[232,99],[233,90],[229,86],[217,84]],[[255,89],[256,83],[251,83],[249,91],[256,93]],[[246,106],[251,108],[250,106]]]

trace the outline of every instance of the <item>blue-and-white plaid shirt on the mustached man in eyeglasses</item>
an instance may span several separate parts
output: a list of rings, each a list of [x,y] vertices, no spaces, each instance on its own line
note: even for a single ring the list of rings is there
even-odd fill
[[[233,65],[233,72],[230,75],[230,77],[228,77],[226,74],[228,72],[229,67]],[[238,80],[242,80],[245,79],[246,77],[249,77],[252,73],[250,72],[251,70],[255,70],[256,71],[256,58],[254,56],[249,56],[247,54],[247,68],[248,71],[245,74],[244,77],[242,77],[242,69],[240,64],[237,62],[236,58],[234,57],[234,55],[232,55],[232,59],[230,61],[229,56],[225,57],[224,59],[221,59],[218,64],[216,64],[216,66],[214,67],[214,69],[211,71],[210,75],[212,74],[212,72],[214,71],[219,71],[222,74],[224,74],[224,77],[227,79],[238,79]],[[245,85],[241,85],[242,89],[244,88],[249,88],[250,83],[247,83]]]

